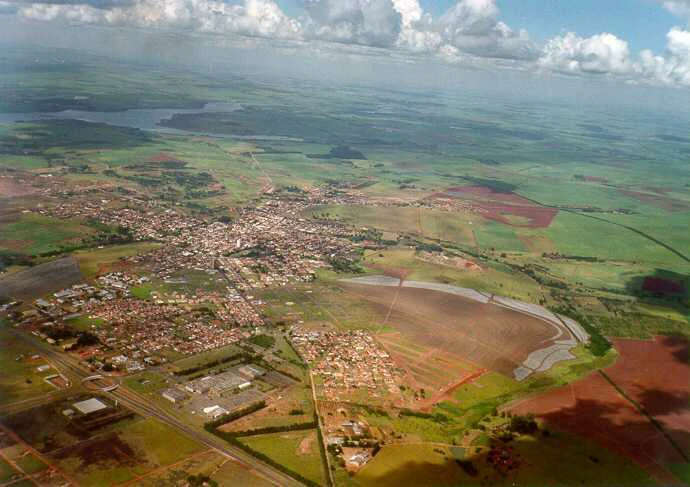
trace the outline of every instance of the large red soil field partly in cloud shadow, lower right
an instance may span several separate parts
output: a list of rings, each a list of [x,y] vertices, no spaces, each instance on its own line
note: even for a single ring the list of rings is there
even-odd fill
[[[690,455],[690,365],[685,339],[614,340],[620,358],[606,374],[655,417]],[[591,438],[646,468],[657,480],[677,483],[666,465],[687,460],[638,409],[598,372],[508,408],[534,413],[555,428]]]

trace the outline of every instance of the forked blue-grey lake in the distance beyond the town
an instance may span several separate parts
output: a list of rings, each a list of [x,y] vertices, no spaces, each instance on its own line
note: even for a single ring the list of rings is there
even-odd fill
[[[289,140],[301,142],[278,135],[232,135],[194,132],[163,127],[160,122],[169,120],[173,115],[199,113],[230,113],[242,109],[239,103],[207,103],[202,108],[133,108],[119,112],[89,112],[84,110],[62,110],[60,112],[0,113],[0,124],[15,122],[35,122],[41,120],[82,120],[85,122],[106,123],[118,127],[129,127],[152,132],[177,135],[204,135],[208,137],[232,138],[243,140]]]

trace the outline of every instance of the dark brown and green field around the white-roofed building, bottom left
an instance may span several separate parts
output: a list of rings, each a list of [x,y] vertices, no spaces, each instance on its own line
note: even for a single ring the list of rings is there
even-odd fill
[[[202,451],[199,444],[150,418],[110,405],[67,419],[72,398],[2,418],[2,423],[80,483],[109,485]],[[40,420],[37,420],[40,418]],[[170,448],[175,445],[175,448]]]

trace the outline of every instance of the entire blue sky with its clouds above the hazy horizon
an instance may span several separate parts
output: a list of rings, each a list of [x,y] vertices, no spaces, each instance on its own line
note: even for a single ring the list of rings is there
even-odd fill
[[[690,0],[0,0],[0,41],[80,26],[690,89]]]

